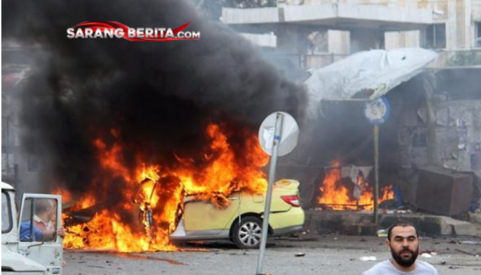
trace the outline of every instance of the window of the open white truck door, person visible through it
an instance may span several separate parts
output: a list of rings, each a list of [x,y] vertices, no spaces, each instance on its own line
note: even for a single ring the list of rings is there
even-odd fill
[[[55,199],[27,199],[23,206],[20,223],[20,241],[55,241]]]

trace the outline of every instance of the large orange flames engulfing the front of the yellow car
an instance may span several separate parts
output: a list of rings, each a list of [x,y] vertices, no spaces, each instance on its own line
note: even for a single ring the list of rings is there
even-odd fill
[[[230,144],[221,124],[208,124],[205,134],[210,146],[202,159],[175,156],[174,164],[147,164],[137,157],[135,170],[125,165],[120,142],[93,141],[100,168],[91,190],[74,198],[61,189],[65,205],[69,249],[142,252],[176,250],[168,240],[181,212],[183,195],[197,194],[219,207],[235,190],[265,192],[267,180],[261,166],[269,161],[257,136],[246,131],[244,144]],[[118,129],[111,137],[118,137]],[[243,152],[239,155],[238,152]],[[119,197],[120,196],[120,197]]]

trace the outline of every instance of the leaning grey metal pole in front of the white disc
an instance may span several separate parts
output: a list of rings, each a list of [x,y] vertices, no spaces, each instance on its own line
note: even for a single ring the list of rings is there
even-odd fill
[[[262,236],[260,239],[259,256],[257,261],[256,274],[258,275],[262,274],[262,262],[264,261],[265,245],[267,243],[267,231],[269,230],[269,212],[271,212],[272,188],[274,186],[274,180],[276,178],[277,155],[278,155],[279,143],[281,139],[280,135],[282,131],[283,118],[284,118],[284,115],[282,115],[282,113],[277,113],[276,126],[274,127],[274,138],[272,141],[271,164],[269,166],[269,184],[267,186],[267,194],[266,194],[265,208],[264,208],[264,219],[262,221]]]

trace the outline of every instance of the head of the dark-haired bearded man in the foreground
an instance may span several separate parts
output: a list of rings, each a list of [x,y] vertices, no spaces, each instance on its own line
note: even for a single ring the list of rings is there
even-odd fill
[[[392,228],[388,248],[392,259],[403,267],[410,267],[418,258],[419,239],[412,226],[396,226]]]

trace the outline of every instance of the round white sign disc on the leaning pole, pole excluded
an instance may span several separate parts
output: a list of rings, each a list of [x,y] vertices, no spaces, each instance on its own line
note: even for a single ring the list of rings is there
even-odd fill
[[[278,156],[287,155],[298,144],[299,126],[295,122],[295,119],[289,113],[276,112],[271,113],[260,124],[259,129],[259,142],[262,150],[268,155],[272,155],[274,131],[276,129],[276,119],[278,113],[282,115],[282,129],[280,131],[280,137],[276,137],[276,140],[280,140],[278,148]]]

